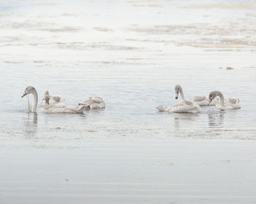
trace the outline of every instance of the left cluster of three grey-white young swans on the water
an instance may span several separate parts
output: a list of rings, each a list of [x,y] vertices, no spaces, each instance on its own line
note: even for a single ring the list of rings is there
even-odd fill
[[[25,95],[29,95],[30,93],[34,95],[34,106],[32,108],[32,111],[36,112],[38,95],[37,90],[34,87],[26,87],[26,90],[21,98],[23,98]],[[102,98],[91,97],[83,103],[79,103],[78,106],[67,105],[64,102],[63,98],[61,98],[60,96],[50,95],[47,90],[45,92],[44,98],[42,98],[41,106],[43,107],[40,111],[46,113],[83,113],[84,110],[88,109],[104,109],[105,102],[102,100]]]

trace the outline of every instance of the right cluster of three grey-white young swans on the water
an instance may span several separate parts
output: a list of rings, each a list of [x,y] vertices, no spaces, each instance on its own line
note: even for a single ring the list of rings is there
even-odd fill
[[[185,100],[181,85],[175,86],[176,99],[181,95],[181,101],[173,106],[157,106],[159,111],[168,111],[176,113],[199,113],[200,106],[216,106],[219,110],[240,109],[238,98],[224,98],[221,92],[212,91],[208,96],[195,96],[189,101]]]

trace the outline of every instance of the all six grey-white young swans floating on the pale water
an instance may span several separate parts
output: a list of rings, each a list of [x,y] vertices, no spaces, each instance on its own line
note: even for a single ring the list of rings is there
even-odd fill
[[[21,96],[23,98],[28,94],[34,95],[34,106],[32,111],[37,111],[38,95],[34,87],[26,87],[25,92]],[[240,109],[238,98],[224,98],[221,92],[212,91],[208,96],[195,96],[189,101],[185,100],[181,85],[175,86],[176,99],[181,95],[181,101],[173,106],[158,106],[159,111],[168,111],[176,113],[198,113],[201,111],[200,106],[216,106],[217,109]],[[67,105],[60,96],[50,95],[48,90],[45,92],[41,101],[42,109],[40,111],[47,113],[82,113],[88,109],[105,109],[105,102],[99,97],[90,97],[78,106]]]

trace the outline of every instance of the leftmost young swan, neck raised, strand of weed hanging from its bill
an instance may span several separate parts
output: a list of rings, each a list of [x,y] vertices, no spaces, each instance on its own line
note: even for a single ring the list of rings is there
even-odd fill
[[[32,108],[33,112],[37,112],[37,103],[38,103],[38,95],[37,95],[37,90],[34,87],[26,87],[25,92],[21,96],[23,98],[25,95],[28,95],[31,93],[34,95],[34,106]],[[47,113],[83,113],[84,110],[88,109],[89,106],[84,104],[80,106],[71,106],[67,105],[64,102],[61,103],[52,103],[50,105],[44,106],[40,111],[41,112],[47,112]]]

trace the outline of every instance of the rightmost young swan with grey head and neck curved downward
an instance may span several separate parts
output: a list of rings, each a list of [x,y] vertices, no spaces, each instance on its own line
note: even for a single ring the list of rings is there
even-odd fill
[[[240,109],[241,108],[241,106],[239,104],[239,98],[224,99],[223,94],[218,90],[214,90],[211,93],[209,93],[208,103],[211,103],[211,101],[213,101],[214,98],[216,98],[217,96],[219,96],[219,103],[217,103],[217,105],[216,105],[217,109],[225,110],[225,109]]]

